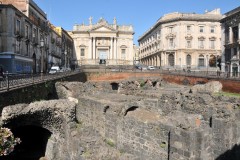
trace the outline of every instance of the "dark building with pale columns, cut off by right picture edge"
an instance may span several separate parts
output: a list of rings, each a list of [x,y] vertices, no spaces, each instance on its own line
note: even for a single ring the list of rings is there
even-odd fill
[[[222,26],[222,71],[239,76],[240,72],[240,7],[224,14]]]

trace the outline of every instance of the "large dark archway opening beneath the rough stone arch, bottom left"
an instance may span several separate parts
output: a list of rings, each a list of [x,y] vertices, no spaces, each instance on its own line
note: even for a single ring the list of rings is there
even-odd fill
[[[37,126],[21,126],[12,129],[14,137],[21,139],[21,143],[16,145],[14,151],[4,160],[24,159],[39,160],[45,156],[48,139],[51,132]]]

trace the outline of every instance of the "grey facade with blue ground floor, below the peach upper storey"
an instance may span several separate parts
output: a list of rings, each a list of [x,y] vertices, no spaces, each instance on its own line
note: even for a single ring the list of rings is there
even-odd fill
[[[4,71],[32,73],[46,70],[46,48],[40,46],[40,38],[46,41],[46,19],[33,22],[12,5],[0,5],[0,9],[0,64]]]

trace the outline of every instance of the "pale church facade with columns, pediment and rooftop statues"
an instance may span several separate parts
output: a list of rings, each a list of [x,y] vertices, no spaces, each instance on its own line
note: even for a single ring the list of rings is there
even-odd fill
[[[100,18],[96,24],[74,25],[70,33],[74,40],[78,65],[133,65],[133,27],[113,24]]]

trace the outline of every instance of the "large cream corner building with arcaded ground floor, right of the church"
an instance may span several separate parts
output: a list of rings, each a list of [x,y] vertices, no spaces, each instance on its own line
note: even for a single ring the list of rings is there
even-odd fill
[[[139,39],[141,63],[162,68],[210,69],[221,55],[220,9],[170,13]]]

